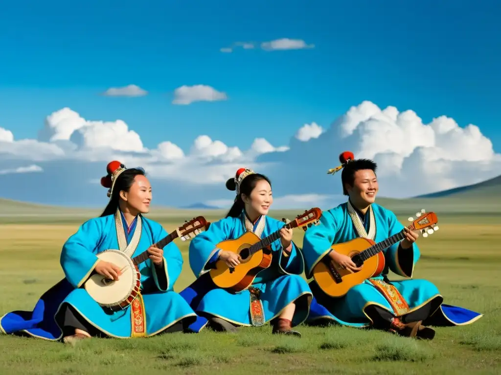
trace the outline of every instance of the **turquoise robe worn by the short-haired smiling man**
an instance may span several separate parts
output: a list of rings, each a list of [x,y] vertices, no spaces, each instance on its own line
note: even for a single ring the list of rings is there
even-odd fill
[[[319,225],[307,229],[303,242],[307,278],[313,277],[314,266],[327,255],[332,244],[346,242],[358,236],[371,238],[377,243],[404,228],[393,212],[376,203],[371,204],[363,221],[360,218],[361,215],[348,201],[324,211]],[[383,280],[389,269],[400,276],[412,278],[414,265],[420,256],[416,243],[408,249],[403,249],[399,247],[399,243],[395,243],[383,252],[385,268],[380,275],[372,278]],[[432,310],[423,324],[468,324],[482,316],[482,314],[461,307],[442,304],[443,297],[430,281],[407,279],[390,282],[409,306],[409,309],[403,314],[398,313],[398,309],[394,310],[384,294],[368,280],[352,287],[345,296],[332,298],[323,293],[315,279],[312,279],[310,287],[315,297],[307,323],[318,323],[321,319],[343,325],[364,327],[371,324],[369,316],[365,313],[365,308],[369,305],[377,305],[395,316],[402,316],[417,310],[427,302],[431,302]]]

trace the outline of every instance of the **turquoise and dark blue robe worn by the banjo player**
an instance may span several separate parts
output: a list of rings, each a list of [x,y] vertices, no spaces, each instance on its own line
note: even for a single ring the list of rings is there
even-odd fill
[[[49,340],[61,339],[64,321],[62,307],[69,304],[105,335],[131,337],[131,306],[111,312],[101,307],[81,286],[98,262],[96,254],[99,252],[120,249],[134,257],[166,235],[159,223],[141,215],[129,227],[119,210],[115,215],[86,221],[63,246],[61,265],[66,278],[45,292],[33,311],[14,311],[4,315],[0,319],[0,330],[3,333],[27,333]],[[144,285],[151,289],[141,293],[146,320],[145,324],[143,321],[144,336],[160,333],[181,320],[191,324],[196,319],[188,303],[173,291],[183,265],[181,252],[174,242],[163,248],[163,258],[163,267],[158,270],[150,259],[138,265],[141,289]]]

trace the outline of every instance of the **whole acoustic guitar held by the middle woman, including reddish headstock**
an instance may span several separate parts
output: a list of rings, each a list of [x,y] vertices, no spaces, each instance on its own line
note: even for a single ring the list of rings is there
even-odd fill
[[[321,215],[322,210],[317,207],[305,210],[303,214],[298,215],[284,227],[291,229],[302,226],[304,229],[310,222],[318,220]],[[247,231],[238,238],[219,242],[216,247],[238,254],[240,264],[236,267],[228,267],[223,260],[218,260],[215,263],[215,268],[209,271],[214,284],[234,292],[249,287],[258,272],[268,268],[272,263],[270,244],[279,238],[280,229],[263,239],[260,239],[253,232]]]

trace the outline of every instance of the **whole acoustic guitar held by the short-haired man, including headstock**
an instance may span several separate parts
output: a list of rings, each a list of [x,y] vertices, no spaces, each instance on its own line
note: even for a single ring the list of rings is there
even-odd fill
[[[411,230],[420,230],[423,237],[438,230],[437,215],[434,212],[427,212],[422,209],[416,213],[416,219],[409,217],[412,224],[407,226]],[[332,258],[327,255],[319,261],[313,268],[313,278],[319,287],[331,297],[342,297],[353,286],[362,283],[367,278],[380,274],[385,266],[385,248],[405,238],[405,231],[386,238],[384,241],[375,243],[372,239],[357,237],[350,241],[337,243],[331,246],[339,254],[348,255],[355,263],[358,271],[348,268],[341,268]]]

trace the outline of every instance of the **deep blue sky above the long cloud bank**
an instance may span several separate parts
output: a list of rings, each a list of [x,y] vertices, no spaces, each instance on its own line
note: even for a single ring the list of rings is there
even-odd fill
[[[146,147],[188,151],[200,134],[247,149],[287,145],[351,106],[414,110],[476,124],[501,151],[501,5],[494,1],[11,1],[0,12],[0,127],[36,138],[70,107],[123,119]],[[302,39],[314,48],[220,48]],[[136,84],[142,97],[108,97]],[[173,90],[205,84],[227,100],[173,105]],[[239,132],[228,131],[237,126]],[[142,127],[143,130],[139,130]],[[335,160],[338,151],[332,156]]]

